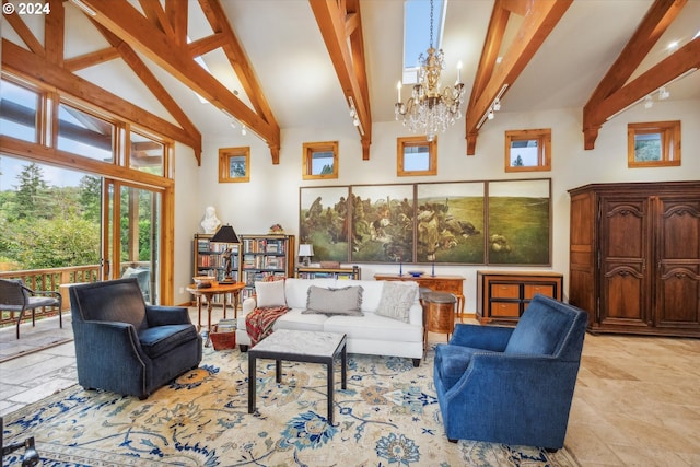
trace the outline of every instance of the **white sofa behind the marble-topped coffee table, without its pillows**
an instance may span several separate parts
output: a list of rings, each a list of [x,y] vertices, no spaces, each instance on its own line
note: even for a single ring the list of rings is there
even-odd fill
[[[408,323],[377,315],[385,281],[336,280],[336,279],[285,279],[284,300],[290,308],[275,323],[273,329],[318,330],[342,332],[347,336],[348,353],[393,355],[413,359],[418,366],[423,358],[423,310],[420,305],[418,285],[415,282],[394,282],[416,288],[416,299],[407,311]],[[327,316],[324,314],[304,314],[308,288],[316,285],[325,289],[341,289],[352,285],[362,287],[362,316]],[[256,307],[255,297],[243,302],[238,313],[236,342],[242,351],[250,345],[245,317]]]

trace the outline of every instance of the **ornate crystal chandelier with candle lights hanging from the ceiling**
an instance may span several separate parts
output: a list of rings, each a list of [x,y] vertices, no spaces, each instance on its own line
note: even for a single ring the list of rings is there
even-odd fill
[[[457,81],[454,86],[440,90],[440,74],[444,70],[444,54],[433,47],[433,1],[430,1],[430,47],[428,56],[418,57],[418,84],[413,85],[411,97],[401,102],[401,82],[397,84],[398,102],[394,106],[396,119],[404,120],[404,126],[416,133],[425,133],[428,141],[433,141],[439,130],[445,131],[448,125],[462,118],[459,107],[464,102],[464,83],[462,83],[462,62],[457,65]]]

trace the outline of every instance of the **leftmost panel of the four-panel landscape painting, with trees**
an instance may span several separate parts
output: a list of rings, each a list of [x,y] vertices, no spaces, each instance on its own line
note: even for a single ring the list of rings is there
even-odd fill
[[[314,246],[314,262],[348,262],[349,187],[300,189],[300,245]]]

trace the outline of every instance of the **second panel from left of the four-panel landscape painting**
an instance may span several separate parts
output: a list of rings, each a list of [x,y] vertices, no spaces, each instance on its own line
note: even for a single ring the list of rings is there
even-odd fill
[[[350,259],[413,261],[413,185],[352,186]]]

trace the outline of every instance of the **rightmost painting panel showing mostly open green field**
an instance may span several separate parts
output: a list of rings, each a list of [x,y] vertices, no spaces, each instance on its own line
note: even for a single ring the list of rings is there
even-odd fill
[[[489,265],[551,265],[551,180],[489,182]]]

